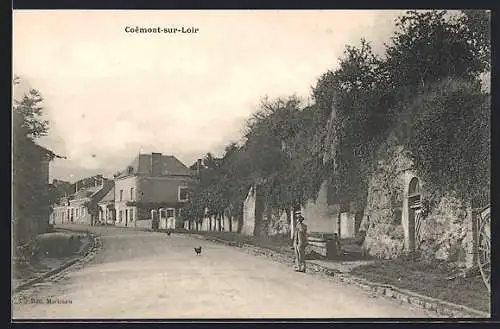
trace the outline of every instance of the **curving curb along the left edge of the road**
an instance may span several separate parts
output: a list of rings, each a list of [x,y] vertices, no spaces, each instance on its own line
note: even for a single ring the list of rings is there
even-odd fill
[[[93,233],[90,233],[89,231],[86,230],[69,230],[65,229],[66,231],[71,231],[71,232],[80,232],[80,233],[86,233],[87,236],[89,237],[90,242],[87,243],[86,245],[82,246],[78,252],[79,257],[72,259],[66,263],[63,263],[59,267],[56,267],[55,269],[50,270],[49,272],[46,272],[36,278],[29,279],[21,284],[18,284],[14,289],[13,293],[18,293],[22,290],[25,290],[37,283],[40,283],[44,281],[45,279],[55,276],[56,274],[64,271],[65,269],[71,267],[72,265],[75,265],[77,263],[82,263],[82,262],[87,262],[93,258],[95,253],[100,249],[102,246],[102,243],[100,241],[100,238],[96,236]],[[90,257],[89,257],[90,256]]]

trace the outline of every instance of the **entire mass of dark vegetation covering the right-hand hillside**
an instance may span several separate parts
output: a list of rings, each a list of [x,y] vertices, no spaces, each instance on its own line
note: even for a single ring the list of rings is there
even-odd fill
[[[314,198],[325,179],[338,203],[366,200],[377,151],[395,131],[432,188],[489,197],[490,104],[479,88],[489,24],[481,10],[408,11],[383,55],[364,39],[347,46],[312,88],[314,104],[264,98],[244,143],[203,160],[187,215],[240,214],[254,184],[273,209]]]

